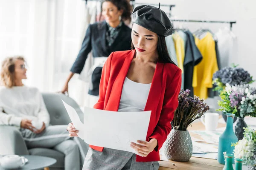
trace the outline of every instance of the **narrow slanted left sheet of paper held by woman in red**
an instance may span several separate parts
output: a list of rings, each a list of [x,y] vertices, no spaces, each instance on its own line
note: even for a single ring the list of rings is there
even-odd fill
[[[72,108],[70,105],[68,105],[66,102],[64,102],[63,100],[62,102],[67,110],[67,113],[71,119],[71,122],[73,123],[75,128],[79,130],[79,133],[77,133],[77,135],[79,136],[79,138],[84,139],[84,124],[81,122],[78,114],[76,113],[76,110]]]

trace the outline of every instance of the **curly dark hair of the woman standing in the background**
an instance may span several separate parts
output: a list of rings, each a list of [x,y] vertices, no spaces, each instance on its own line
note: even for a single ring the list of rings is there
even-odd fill
[[[122,10],[121,20],[131,21],[131,5],[128,0],[102,0],[102,3],[109,1],[113,3],[118,10]]]

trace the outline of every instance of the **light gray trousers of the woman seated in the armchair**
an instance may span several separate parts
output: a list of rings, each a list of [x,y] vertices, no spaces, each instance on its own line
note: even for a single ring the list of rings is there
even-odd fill
[[[29,149],[44,147],[57,150],[65,154],[65,170],[80,170],[87,146],[78,138],[70,138],[66,128],[67,125],[49,126],[40,134],[35,134],[28,129],[20,131]]]

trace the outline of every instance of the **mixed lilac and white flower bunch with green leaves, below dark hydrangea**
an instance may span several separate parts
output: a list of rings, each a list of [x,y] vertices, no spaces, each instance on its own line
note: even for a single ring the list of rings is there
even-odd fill
[[[218,101],[220,109],[224,113],[233,113],[237,117],[256,117],[256,88],[250,85],[226,84],[224,91],[221,91],[221,100]]]

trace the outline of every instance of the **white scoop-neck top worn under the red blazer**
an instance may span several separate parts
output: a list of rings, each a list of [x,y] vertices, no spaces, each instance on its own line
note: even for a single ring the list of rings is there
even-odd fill
[[[120,112],[137,112],[144,111],[148,99],[150,84],[142,84],[131,81],[125,77],[122,88],[122,96],[118,111]]]

